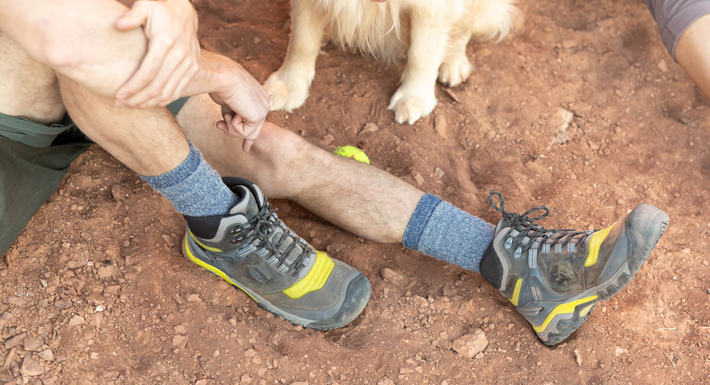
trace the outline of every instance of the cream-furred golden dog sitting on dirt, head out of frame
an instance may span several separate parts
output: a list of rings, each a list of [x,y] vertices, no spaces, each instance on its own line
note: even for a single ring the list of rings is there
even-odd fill
[[[515,0],[291,0],[291,40],[285,61],[266,79],[271,111],[305,102],[325,38],[393,62],[406,55],[388,109],[413,124],[437,105],[435,86],[465,82],[473,66],[466,44],[501,40],[513,26]]]

